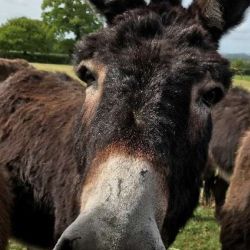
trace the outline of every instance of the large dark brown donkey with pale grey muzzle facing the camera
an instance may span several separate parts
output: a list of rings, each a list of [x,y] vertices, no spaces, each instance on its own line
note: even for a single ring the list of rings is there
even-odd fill
[[[231,84],[218,42],[250,2],[91,2],[108,27],[76,46],[85,98],[42,73],[1,84],[12,235],[44,248],[61,236],[56,250],[165,249],[197,206],[211,108]]]

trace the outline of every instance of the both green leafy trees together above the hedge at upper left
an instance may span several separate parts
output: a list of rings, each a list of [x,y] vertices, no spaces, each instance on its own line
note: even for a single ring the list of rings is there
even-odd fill
[[[84,0],[43,0],[41,8],[41,20],[19,17],[0,26],[0,54],[69,55],[77,40],[103,25]]]

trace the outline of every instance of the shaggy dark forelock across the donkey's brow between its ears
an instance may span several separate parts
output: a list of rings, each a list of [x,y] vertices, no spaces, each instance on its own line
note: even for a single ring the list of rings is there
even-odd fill
[[[186,9],[169,3],[152,4],[118,15],[113,26],[79,42],[74,55],[75,64],[94,56],[100,60],[105,55],[110,58],[111,53],[121,55],[123,49],[145,43],[151,43],[152,48],[156,47],[156,43],[168,43],[172,46],[171,50],[182,47],[216,49],[209,33]]]

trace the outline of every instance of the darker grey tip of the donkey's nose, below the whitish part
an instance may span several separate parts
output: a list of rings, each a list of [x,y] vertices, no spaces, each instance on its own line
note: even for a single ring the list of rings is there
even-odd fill
[[[54,250],[165,250],[154,221],[134,222],[120,225],[119,219],[102,210],[80,215]]]

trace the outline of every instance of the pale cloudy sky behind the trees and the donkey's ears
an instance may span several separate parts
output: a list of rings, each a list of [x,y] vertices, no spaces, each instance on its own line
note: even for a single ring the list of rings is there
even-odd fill
[[[183,4],[187,6],[191,1],[184,0]],[[13,17],[40,18],[41,3],[42,0],[0,0],[0,24]],[[245,22],[222,39],[220,51],[250,54],[250,10]]]

